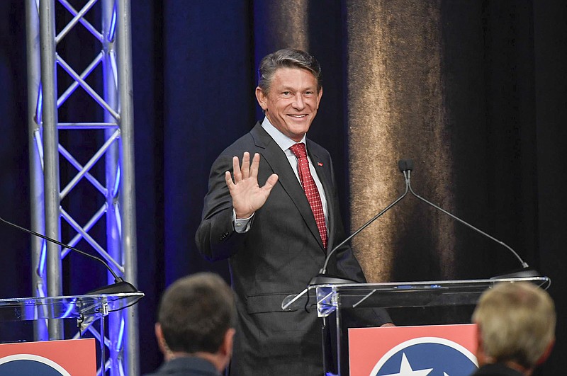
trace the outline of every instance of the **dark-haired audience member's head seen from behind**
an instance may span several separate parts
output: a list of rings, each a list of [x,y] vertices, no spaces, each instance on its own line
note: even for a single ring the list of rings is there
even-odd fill
[[[165,360],[205,358],[223,370],[232,355],[236,309],[232,290],[213,273],[196,273],[167,288],[159,304],[156,336]]]

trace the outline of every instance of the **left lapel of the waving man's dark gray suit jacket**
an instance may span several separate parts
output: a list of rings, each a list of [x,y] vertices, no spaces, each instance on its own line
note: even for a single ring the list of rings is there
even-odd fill
[[[286,191],[293,203],[296,205],[297,210],[305,221],[305,224],[307,224],[307,227],[310,229],[310,232],[313,234],[315,239],[317,239],[322,249],[323,244],[317,223],[315,222],[315,217],[313,217],[313,212],[311,211],[307,197],[305,197],[305,191],[301,187],[293,169],[291,169],[286,154],[281,150],[279,145],[276,144],[274,139],[268,135],[264,128],[262,128],[260,123],[257,123],[250,133],[252,134],[252,137],[254,137],[256,146],[264,149],[262,156],[271,167],[271,170],[278,174],[278,183],[281,184],[283,190]],[[327,190],[325,188],[325,193],[326,192]]]

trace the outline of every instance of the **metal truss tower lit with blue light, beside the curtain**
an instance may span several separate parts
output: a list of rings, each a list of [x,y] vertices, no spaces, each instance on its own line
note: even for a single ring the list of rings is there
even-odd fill
[[[74,8],[78,2],[84,4],[82,8]],[[70,21],[61,21],[61,15]],[[89,21],[92,19],[99,19],[100,25]],[[26,28],[32,229],[69,246],[84,239],[91,246],[89,251],[98,253],[117,275],[137,285],[130,1],[27,0]],[[78,49],[57,49],[78,28],[84,29],[80,30],[82,42],[87,34],[94,38],[88,45],[99,46],[86,67],[72,67],[69,55],[84,56],[89,49],[84,51],[80,45]],[[86,108],[96,110],[83,110]],[[68,114],[84,113],[94,115],[67,119],[72,116]],[[85,134],[96,143],[87,158],[81,141]],[[75,137],[79,142],[73,141]],[[60,173],[62,169],[67,173]],[[64,176],[71,178],[62,181]],[[77,205],[66,207],[79,185],[79,201],[97,207],[86,213],[88,220],[76,219],[85,217],[84,209],[79,213],[72,212]],[[92,196],[86,197],[85,192]],[[72,239],[61,239],[62,221]],[[99,232],[94,232],[95,227]],[[97,239],[100,233],[104,236]],[[62,295],[62,259],[69,250],[35,238],[31,246],[34,296]],[[95,261],[84,260],[99,268]],[[114,282],[111,273],[108,282]],[[91,324],[86,324],[87,330],[99,345],[104,343],[108,354],[98,375],[139,375],[136,307],[109,314],[108,331],[101,333]],[[61,320],[35,324],[36,340],[72,337],[79,334],[65,335]]]

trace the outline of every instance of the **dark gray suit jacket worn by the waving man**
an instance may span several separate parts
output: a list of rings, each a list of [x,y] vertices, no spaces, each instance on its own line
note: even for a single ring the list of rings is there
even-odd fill
[[[306,143],[327,198],[327,249],[332,249],[344,239],[332,161],[320,145],[309,139]],[[261,156],[260,186],[272,173],[279,180],[254,214],[251,229],[238,234],[232,225],[225,171],[232,171],[232,156],[242,158],[244,152]],[[196,243],[211,261],[229,258],[239,317],[231,375],[321,375],[321,325],[315,309],[283,312],[281,302],[301,292],[318,274],[325,249],[286,154],[259,123],[214,162]],[[365,281],[349,246],[335,255],[329,273]],[[376,325],[390,321],[385,316],[377,318]]]

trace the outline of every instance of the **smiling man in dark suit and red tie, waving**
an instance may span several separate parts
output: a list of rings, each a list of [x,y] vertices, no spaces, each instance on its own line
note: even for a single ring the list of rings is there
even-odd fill
[[[305,138],[321,96],[314,57],[300,50],[264,57],[256,97],[266,117],[210,171],[196,243],[211,261],[229,259],[238,312],[231,375],[323,372],[316,312],[281,309],[345,238],[331,157]],[[328,271],[365,281],[349,246],[334,253]],[[375,324],[390,321],[383,312]]]

